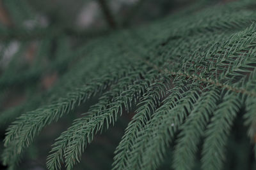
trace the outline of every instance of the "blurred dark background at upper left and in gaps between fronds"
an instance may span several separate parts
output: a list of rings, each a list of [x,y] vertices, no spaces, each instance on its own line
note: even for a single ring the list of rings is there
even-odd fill
[[[209,6],[227,2],[0,0],[0,153],[3,150],[5,129],[16,117],[63,95],[60,87],[65,87],[65,84],[61,84],[65,80],[64,73],[74,69],[79,57],[83,57],[83,46],[92,39],[120,29],[147,25],[195,3]],[[56,96],[51,96],[52,92]],[[19,169],[46,169],[45,160],[54,139],[72,124],[74,118],[81,117],[81,113],[88,110],[88,105],[96,101],[97,97],[79,106],[74,114],[47,126],[28,152],[24,153]],[[111,169],[113,152],[131,117],[132,114],[124,115],[115,127],[97,135],[83,154],[81,163],[74,169]],[[225,169],[255,167],[253,155],[248,154],[252,150],[248,145],[249,139],[241,135],[245,133],[246,129],[238,117],[228,144],[229,156]],[[171,159],[170,152],[161,169],[169,169]],[[254,163],[248,164],[248,161]],[[6,168],[0,164],[0,169]]]

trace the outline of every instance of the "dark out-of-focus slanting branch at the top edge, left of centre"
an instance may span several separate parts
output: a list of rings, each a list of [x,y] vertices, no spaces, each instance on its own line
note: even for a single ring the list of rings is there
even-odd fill
[[[111,28],[116,28],[116,22],[113,18],[113,15],[111,13],[111,10],[109,10],[109,6],[106,3],[105,0],[98,0],[100,7],[102,8],[102,12],[104,13],[104,16],[106,18],[106,21],[108,22],[109,26]]]

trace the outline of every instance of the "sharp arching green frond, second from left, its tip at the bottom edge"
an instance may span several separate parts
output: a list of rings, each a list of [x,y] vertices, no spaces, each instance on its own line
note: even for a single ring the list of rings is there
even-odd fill
[[[129,88],[131,88],[132,85],[134,87],[138,86],[138,83],[141,81],[140,76],[141,76],[141,72],[134,70],[132,73],[129,74],[129,76],[120,78],[120,80],[118,80],[118,82],[115,85],[110,87],[110,90],[102,94],[102,97],[100,97],[99,102],[91,106],[90,110],[88,111],[88,113],[84,115],[83,118],[74,120],[73,126],[70,127],[67,131],[63,132],[63,134],[61,134],[60,138],[58,138],[56,143],[54,144],[55,147],[51,151],[52,154],[49,155],[48,157],[47,166],[49,167],[49,169],[60,168],[60,159],[61,159],[61,155],[63,154],[62,152],[63,150],[65,151],[64,148],[67,147],[68,140],[74,138],[73,134],[75,133],[74,131],[78,130],[77,127],[79,127],[79,129],[83,128],[83,126],[88,124],[88,122],[90,122],[90,120],[93,117],[95,118],[102,115],[101,113],[103,111],[108,111],[109,113],[111,113],[111,111],[109,111],[110,104],[113,102],[116,102],[115,100],[118,99],[118,96],[120,96],[120,94],[122,94],[122,92],[124,92],[125,90],[128,90]],[[144,85],[147,86],[147,84],[144,84]],[[130,104],[124,103],[124,104],[125,104],[124,105],[125,109],[129,110],[129,108],[131,107],[130,106],[131,103]],[[120,106],[117,109],[120,110]],[[111,115],[109,115],[109,117],[111,117]],[[104,120],[102,121],[104,122]],[[109,125],[108,123],[110,122],[106,122],[106,123],[108,126]],[[61,143],[62,145],[60,145],[59,143]],[[84,146],[81,146],[81,147],[84,147]],[[81,150],[79,150],[79,152],[80,153],[75,153],[75,154],[81,155]],[[59,162],[58,168],[55,162]]]

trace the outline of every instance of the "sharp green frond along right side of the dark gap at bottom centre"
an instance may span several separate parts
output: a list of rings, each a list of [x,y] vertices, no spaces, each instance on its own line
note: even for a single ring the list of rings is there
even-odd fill
[[[136,110],[131,122],[129,122],[122,141],[120,141],[115,150],[116,155],[114,157],[113,169],[125,169],[127,167],[125,164],[127,164],[128,153],[132,145],[134,145],[134,139],[136,139],[138,132],[147,124],[152,112],[160,106],[161,101],[167,95],[166,91],[170,89],[171,83],[168,80],[170,78],[152,83],[148,87],[147,92],[141,97],[141,102],[138,103],[139,108]]]

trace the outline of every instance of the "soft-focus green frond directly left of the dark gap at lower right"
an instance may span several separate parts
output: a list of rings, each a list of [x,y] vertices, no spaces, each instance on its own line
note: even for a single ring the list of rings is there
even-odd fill
[[[239,96],[225,94],[207,126],[206,139],[202,150],[202,169],[221,169],[225,159],[225,144],[232,122],[241,108]]]

